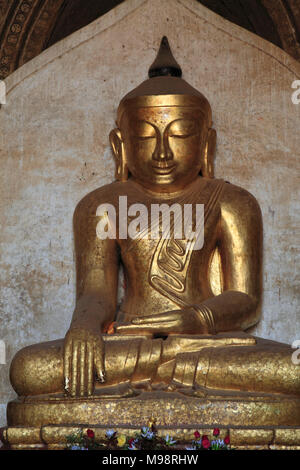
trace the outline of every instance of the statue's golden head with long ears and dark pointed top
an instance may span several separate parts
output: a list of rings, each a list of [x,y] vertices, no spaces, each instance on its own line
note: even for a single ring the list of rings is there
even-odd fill
[[[216,133],[207,99],[185,80],[162,39],[149,79],[128,93],[110,133],[116,177],[132,177],[158,192],[174,192],[199,174],[213,176]]]

